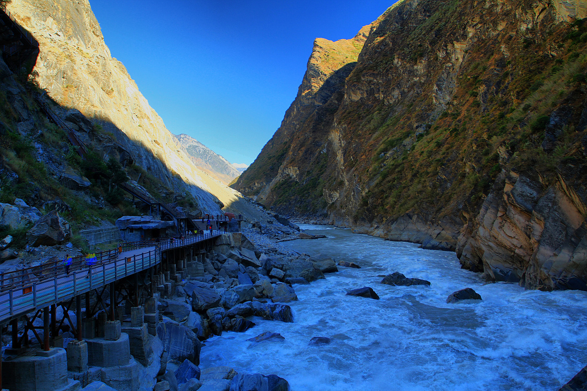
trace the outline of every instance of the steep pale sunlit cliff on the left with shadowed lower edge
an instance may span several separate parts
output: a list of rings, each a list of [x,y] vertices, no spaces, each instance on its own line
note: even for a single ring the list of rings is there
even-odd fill
[[[191,193],[205,213],[220,213],[222,205],[255,213],[238,192],[198,169],[181,151],[124,65],[110,55],[87,0],[13,0],[6,8],[39,42],[39,85],[63,108],[56,108],[59,114],[69,115],[80,138],[89,145],[112,144],[102,149],[104,158],[134,162],[176,192]],[[76,117],[76,110],[92,121],[87,127],[80,126],[85,120]],[[95,134],[92,124],[112,137]]]

